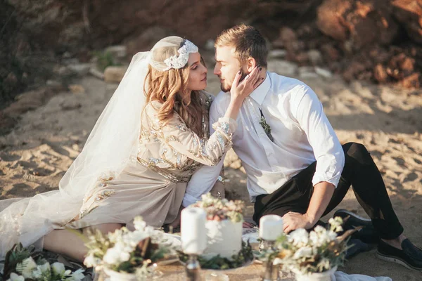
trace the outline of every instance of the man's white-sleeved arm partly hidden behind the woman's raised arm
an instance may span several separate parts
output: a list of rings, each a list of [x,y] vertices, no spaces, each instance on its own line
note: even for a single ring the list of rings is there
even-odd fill
[[[214,124],[219,119],[219,117],[224,116],[224,114],[222,115],[218,110],[218,108],[221,107],[219,106],[219,101],[221,100],[221,98],[216,98],[210,107],[210,135],[214,133],[212,124]],[[192,175],[191,180],[186,186],[186,192],[182,202],[184,207],[188,207],[189,205],[199,201],[201,195],[210,192],[215,184],[222,184],[217,182],[217,178],[222,171],[224,157],[226,157],[225,154],[223,155],[219,164],[215,166],[202,166]]]

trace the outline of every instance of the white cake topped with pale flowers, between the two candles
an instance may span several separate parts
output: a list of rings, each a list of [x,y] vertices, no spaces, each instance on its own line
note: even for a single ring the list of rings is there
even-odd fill
[[[243,201],[217,199],[210,193],[203,195],[202,200],[193,205],[205,209],[207,221],[207,248],[203,256],[212,258],[221,256],[231,259],[242,249]]]

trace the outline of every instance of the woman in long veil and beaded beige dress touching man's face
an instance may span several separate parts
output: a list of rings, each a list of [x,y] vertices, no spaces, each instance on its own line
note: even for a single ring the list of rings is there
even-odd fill
[[[79,235],[113,231],[141,215],[148,225],[172,223],[186,183],[202,165],[215,165],[231,148],[241,103],[257,86],[257,68],[241,83],[209,136],[212,96],[207,69],[191,41],[166,37],[132,58],[117,90],[59,189],[0,201],[0,260],[13,244],[82,261]]]

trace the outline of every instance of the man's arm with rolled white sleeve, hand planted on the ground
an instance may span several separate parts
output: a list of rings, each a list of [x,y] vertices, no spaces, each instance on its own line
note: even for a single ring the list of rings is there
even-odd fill
[[[343,148],[316,93],[308,86],[302,86],[292,103],[293,116],[314,150],[316,171],[312,178],[314,192],[307,212],[285,214],[283,219],[286,232],[297,228],[312,228],[315,225],[333,197],[345,164]]]

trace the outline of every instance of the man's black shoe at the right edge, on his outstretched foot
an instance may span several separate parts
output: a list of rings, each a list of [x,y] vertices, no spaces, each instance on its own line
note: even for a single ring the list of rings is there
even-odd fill
[[[381,240],[376,256],[383,261],[391,261],[422,272],[422,250],[412,244],[409,239],[403,240],[401,250]]]

